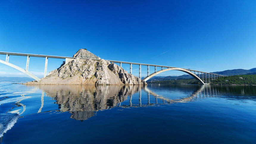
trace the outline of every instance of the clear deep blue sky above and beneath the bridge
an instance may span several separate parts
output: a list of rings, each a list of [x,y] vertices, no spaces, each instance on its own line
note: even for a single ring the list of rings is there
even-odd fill
[[[256,67],[255,7],[250,0],[5,0],[0,1],[0,51],[73,56],[87,48],[108,60],[206,72],[250,69]],[[42,76],[44,61],[31,58],[29,71]],[[62,61],[49,59],[48,72]],[[25,69],[26,57],[10,56],[10,62]],[[0,76],[25,75],[0,64]]]

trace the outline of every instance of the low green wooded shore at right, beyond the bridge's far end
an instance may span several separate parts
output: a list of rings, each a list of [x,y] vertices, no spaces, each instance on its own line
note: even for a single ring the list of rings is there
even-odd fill
[[[256,75],[236,75],[221,77],[211,81],[211,84],[223,85],[256,85]]]

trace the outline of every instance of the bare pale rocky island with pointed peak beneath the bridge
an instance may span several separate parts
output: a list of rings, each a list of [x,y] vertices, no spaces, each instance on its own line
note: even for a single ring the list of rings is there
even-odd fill
[[[100,59],[86,49],[79,49],[74,59],[49,72],[39,82],[26,84],[96,84],[96,85],[142,85],[143,80],[134,76],[115,63]],[[80,59],[80,58],[85,58]]]

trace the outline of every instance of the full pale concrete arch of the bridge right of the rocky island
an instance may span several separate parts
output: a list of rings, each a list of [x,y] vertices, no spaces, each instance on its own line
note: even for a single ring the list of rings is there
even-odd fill
[[[149,76],[145,77],[145,78],[143,79],[143,81],[147,81],[147,80],[149,80],[150,78],[152,78],[153,76],[155,76],[155,75],[157,75],[157,74],[159,74],[159,73],[162,73],[162,72],[165,72],[165,71],[170,71],[170,70],[183,71],[183,72],[188,73],[189,75],[193,76],[193,77],[194,77],[196,80],[198,80],[201,84],[205,84],[205,83],[202,81],[202,79],[200,79],[198,76],[196,76],[196,74],[194,74],[194,73],[192,73],[192,72],[190,72],[190,71],[188,71],[188,70],[185,70],[185,69],[183,69],[183,68],[167,68],[167,69],[164,69],[164,70],[160,70],[160,71],[157,71],[157,72],[152,73],[152,74],[150,74]]]

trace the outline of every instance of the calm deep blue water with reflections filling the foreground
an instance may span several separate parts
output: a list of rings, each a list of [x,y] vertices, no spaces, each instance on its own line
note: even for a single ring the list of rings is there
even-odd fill
[[[256,143],[256,86],[0,83],[1,143]]]

